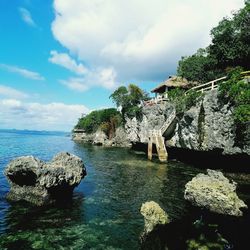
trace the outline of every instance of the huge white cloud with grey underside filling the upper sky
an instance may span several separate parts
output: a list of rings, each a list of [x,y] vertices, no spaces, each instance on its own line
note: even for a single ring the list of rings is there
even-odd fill
[[[118,81],[163,80],[183,55],[210,42],[210,30],[244,0],[54,0],[54,37]],[[65,32],[67,30],[67,32]]]

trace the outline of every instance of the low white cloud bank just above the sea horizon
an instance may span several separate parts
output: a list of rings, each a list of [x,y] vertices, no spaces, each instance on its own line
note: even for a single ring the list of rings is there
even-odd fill
[[[83,105],[0,100],[0,120],[3,128],[70,131],[81,114],[88,112],[89,109]]]

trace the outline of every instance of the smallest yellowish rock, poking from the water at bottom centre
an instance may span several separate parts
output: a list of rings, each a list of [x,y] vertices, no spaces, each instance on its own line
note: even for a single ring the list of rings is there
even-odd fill
[[[143,203],[141,214],[144,216],[144,234],[149,234],[158,225],[169,223],[166,212],[154,201]]]

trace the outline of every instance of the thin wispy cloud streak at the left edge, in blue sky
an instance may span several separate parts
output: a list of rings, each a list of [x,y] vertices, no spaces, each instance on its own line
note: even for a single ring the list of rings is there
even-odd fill
[[[30,70],[20,68],[17,66],[13,66],[13,65],[0,64],[0,69],[7,70],[11,73],[19,74],[25,78],[32,79],[32,80],[38,80],[38,81],[45,80],[45,78],[37,72],[30,71]]]

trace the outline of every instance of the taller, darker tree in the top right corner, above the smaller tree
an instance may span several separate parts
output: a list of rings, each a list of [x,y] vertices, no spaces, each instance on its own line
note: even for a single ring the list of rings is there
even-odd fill
[[[242,66],[250,68],[250,3],[232,18],[224,18],[211,31],[212,44],[209,54],[217,59],[217,67]]]

